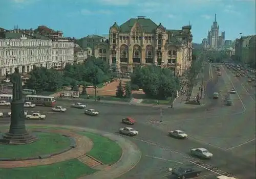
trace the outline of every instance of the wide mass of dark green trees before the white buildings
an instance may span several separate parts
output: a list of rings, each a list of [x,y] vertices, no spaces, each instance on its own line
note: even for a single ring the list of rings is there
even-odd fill
[[[111,79],[108,63],[92,57],[83,64],[67,64],[62,73],[55,69],[37,67],[30,72],[30,76],[27,82],[29,89],[38,92],[56,91],[62,86],[71,86],[73,91],[77,91],[78,85],[81,85],[84,95],[87,86],[95,86],[95,82],[96,86],[102,85]]]

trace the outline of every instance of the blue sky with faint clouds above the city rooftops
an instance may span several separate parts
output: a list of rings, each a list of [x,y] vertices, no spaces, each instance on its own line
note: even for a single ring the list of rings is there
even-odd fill
[[[109,34],[130,18],[145,16],[166,29],[191,24],[201,43],[217,14],[226,40],[255,35],[255,0],[0,0],[0,27],[36,29],[46,25],[66,37]]]

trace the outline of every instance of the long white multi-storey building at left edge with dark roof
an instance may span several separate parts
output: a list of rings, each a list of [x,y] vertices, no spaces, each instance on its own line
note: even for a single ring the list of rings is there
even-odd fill
[[[51,67],[52,40],[38,34],[4,32],[0,35],[0,75],[18,67],[27,73],[34,66]]]

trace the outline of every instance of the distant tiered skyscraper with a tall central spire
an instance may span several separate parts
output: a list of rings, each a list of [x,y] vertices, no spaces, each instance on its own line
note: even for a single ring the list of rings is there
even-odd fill
[[[215,14],[215,21],[214,25],[211,25],[211,31],[208,31],[207,36],[207,45],[210,48],[222,48],[225,42],[225,32],[221,32],[221,36],[219,36],[219,25],[216,21],[216,14]]]

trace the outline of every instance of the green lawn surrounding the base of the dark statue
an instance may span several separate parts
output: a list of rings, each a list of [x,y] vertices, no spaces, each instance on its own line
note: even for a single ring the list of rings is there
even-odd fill
[[[56,133],[34,133],[38,141],[26,145],[4,145],[0,144],[0,158],[28,158],[39,155],[51,154],[68,148],[70,139]]]

